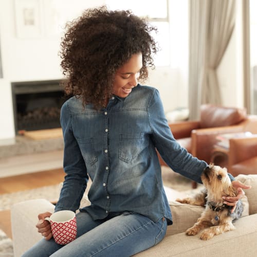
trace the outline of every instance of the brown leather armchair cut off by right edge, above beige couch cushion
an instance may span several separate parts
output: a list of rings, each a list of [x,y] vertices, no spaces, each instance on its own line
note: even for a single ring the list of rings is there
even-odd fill
[[[257,174],[257,136],[229,140],[228,171],[239,174]]]

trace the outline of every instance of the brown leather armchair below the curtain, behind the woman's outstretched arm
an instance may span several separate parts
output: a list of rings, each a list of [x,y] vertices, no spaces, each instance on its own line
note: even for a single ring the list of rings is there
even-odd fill
[[[209,163],[217,135],[243,131],[257,133],[257,116],[248,116],[245,108],[204,104],[200,107],[200,120],[175,122],[169,126],[181,146]],[[159,161],[161,165],[167,165],[160,156]]]

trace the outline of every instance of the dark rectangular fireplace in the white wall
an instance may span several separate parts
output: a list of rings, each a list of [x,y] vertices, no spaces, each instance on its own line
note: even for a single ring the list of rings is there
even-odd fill
[[[60,127],[65,96],[60,80],[12,82],[16,134],[20,131]]]

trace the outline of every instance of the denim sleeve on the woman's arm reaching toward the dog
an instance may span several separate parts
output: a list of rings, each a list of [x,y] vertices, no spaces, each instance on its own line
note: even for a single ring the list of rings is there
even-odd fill
[[[157,89],[150,98],[148,115],[152,140],[163,160],[173,171],[201,183],[200,175],[208,164],[193,157],[174,139]]]

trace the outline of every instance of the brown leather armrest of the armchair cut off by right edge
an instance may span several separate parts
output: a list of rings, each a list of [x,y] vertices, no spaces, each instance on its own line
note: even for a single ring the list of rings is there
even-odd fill
[[[229,166],[257,156],[257,136],[229,140]]]

